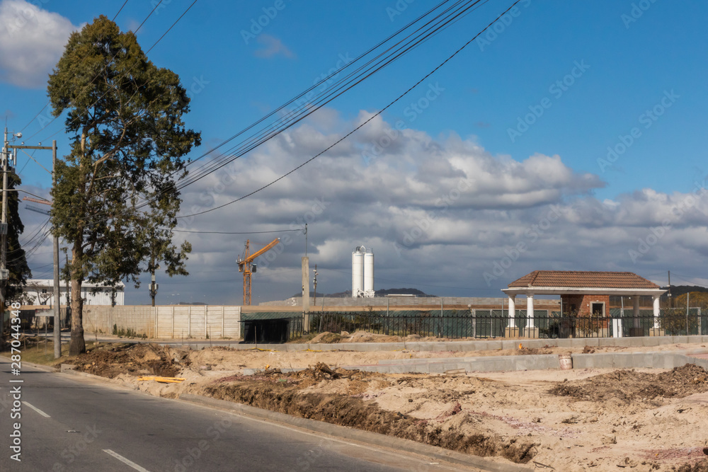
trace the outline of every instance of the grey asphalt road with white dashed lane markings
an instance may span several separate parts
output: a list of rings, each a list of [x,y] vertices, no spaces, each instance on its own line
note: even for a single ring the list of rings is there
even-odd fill
[[[102,381],[20,371],[0,358],[0,471],[471,470]]]

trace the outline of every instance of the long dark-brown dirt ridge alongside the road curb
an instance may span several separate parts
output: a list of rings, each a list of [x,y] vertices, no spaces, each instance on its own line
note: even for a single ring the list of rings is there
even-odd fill
[[[504,439],[489,432],[465,434],[443,424],[445,418],[461,413],[459,404],[440,415],[438,421],[421,421],[399,412],[383,410],[374,401],[337,393],[307,393],[304,386],[314,381],[350,380],[377,376],[368,372],[330,369],[317,364],[292,374],[263,372],[255,377],[227,377],[205,386],[203,393],[221,400],[244,403],[257,408],[285,413],[359,430],[389,434],[404,439],[445,447],[476,456],[503,456],[525,464],[535,456],[534,443],[517,438]],[[226,383],[224,383],[226,381]],[[464,418],[462,422],[466,422]]]

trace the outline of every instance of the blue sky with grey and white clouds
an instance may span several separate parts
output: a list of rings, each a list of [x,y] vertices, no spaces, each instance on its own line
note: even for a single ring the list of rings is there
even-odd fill
[[[143,49],[191,3],[163,1],[137,33]],[[47,109],[33,120],[47,103],[47,74],[72,29],[101,14],[113,18],[122,4],[0,1],[0,112],[10,131],[23,132],[25,144],[57,139],[59,154],[68,148],[62,120],[47,124]],[[135,30],[155,4],[129,0],[116,22]],[[186,121],[202,132],[202,147],[193,152],[199,156],[434,4],[215,6],[202,0],[149,58],[179,74],[190,90]],[[223,189],[217,174],[191,185],[183,214],[194,205],[207,209],[205,195],[219,204],[234,200],[309,159],[416,84],[511,4],[486,2],[235,161]],[[496,296],[536,269],[629,270],[663,284],[672,270],[674,284],[705,284],[707,10],[700,1],[522,0],[329,153],[183,229],[271,231],[308,219],[308,253],[325,292],[350,288],[350,253],[360,244],[375,250],[377,289]],[[261,30],[253,26],[259,20]],[[404,129],[394,133],[396,122]],[[392,135],[394,143],[373,161],[362,157]],[[610,159],[608,148],[616,153]],[[50,163],[48,152],[35,158]],[[21,155],[25,188],[47,195],[49,175],[26,162]],[[22,217],[28,236],[44,221],[24,209]],[[239,303],[233,261],[249,236],[183,236],[194,246],[193,275],[159,277],[158,301]],[[258,246],[270,236],[250,237]],[[300,240],[293,231],[282,253],[262,261],[254,302],[299,291]],[[30,267],[48,277],[50,262],[47,240]],[[127,302],[146,303],[146,292],[129,289]]]

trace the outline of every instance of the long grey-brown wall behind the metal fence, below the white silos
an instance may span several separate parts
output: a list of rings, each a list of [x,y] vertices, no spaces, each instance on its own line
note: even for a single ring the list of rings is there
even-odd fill
[[[324,298],[324,300],[323,300]],[[518,298],[517,304],[519,300]],[[473,308],[479,307],[498,307],[501,309],[501,304],[504,304],[504,309],[508,309],[508,297],[374,297],[374,298],[333,298],[333,297],[317,297],[315,303],[314,298],[310,297],[310,311],[316,311],[318,306],[322,306],[324,301],[325,306],[425,306],[439,308],[440,304],[445,306],[464,306],[472,305]],[[302,297],[292,297],[287,300],[280,301],[263,301],[258,306],[302,306]],[[560,300],[535,300],[535,306],[560,306]]]

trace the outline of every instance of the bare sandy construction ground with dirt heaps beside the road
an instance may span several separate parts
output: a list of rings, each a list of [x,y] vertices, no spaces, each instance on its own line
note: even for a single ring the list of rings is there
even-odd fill
[[[486,352],[192,351],[105,345],[74,362],[154,395],[195,393],[302,418],[391,434],[546,471],[708,472],[708,372],[573,369],[438,376],[375,374],[343,365],[381,359],[583,352],[557,347]],[[335,336],[323,336],[332,342]],[[311,341],[312,343],[312,341]],[[651,350],[696,350],[671,345]],[[592,347],[597,352],[646,348]],[[244,368],[263,372],[246,376]],[[303,368],[285,373],[281,369]],[[138,381],[180,376],[181,384]]]

